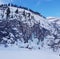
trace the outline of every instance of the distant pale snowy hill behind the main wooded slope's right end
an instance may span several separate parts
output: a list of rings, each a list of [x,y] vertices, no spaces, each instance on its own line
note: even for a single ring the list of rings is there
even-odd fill
[[[60,18],[48,17],[47,20],[51,22],[55,30],[60,31]]]

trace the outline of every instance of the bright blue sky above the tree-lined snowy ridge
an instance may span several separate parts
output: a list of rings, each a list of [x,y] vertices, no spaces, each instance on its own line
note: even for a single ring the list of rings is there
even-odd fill
[[[0,0],[0,4],[10,2],[30,8],[45,17],[60,17],[60,0]]]

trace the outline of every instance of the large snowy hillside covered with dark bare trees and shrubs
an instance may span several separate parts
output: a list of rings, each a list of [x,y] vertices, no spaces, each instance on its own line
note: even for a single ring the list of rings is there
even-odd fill
[[[59,25],[58,25],[59,26]],[[28,49],[60,49],[60,30],[54,22],[30,9],[0,6],[0,45]]]

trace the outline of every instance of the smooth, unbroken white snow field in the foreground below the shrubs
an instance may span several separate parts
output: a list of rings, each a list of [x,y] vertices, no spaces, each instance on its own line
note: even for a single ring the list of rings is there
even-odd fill
[[[0,48],[0,59],[60,59],[60,56],[42,50]]]

